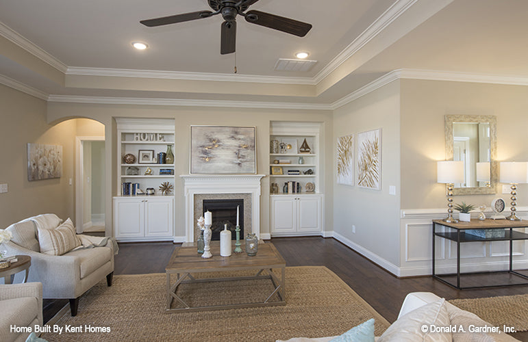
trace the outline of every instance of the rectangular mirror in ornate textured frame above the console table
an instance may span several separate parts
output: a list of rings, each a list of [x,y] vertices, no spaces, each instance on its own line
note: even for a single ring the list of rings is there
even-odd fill
[[[496,116],[447,115],[444,129],[446,160],[464,161],[464,183],[455,184],[453,194],[495,194]]]

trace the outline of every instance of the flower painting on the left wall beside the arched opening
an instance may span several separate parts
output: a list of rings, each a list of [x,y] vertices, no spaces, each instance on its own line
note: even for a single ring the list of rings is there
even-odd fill
[[[60,178],[62,146],[27,144],[27,180]]]

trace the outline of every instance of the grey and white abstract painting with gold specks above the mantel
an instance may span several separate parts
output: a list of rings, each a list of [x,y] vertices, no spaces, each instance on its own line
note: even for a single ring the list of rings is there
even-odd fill
[[[255,127],[191,126],[190,174],[256,174]]]

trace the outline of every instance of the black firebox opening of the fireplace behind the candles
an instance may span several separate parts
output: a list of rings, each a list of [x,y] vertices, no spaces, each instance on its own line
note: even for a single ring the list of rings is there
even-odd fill
[[[231,231],[231,240],[236,239],[236,209],[238,207],[238,224],[240,225],[240,237],[244,237],[244,200],[240,199],[221,199],[221,200],[203,200],[203,212],[212,213],[212,237],[211,239],[220,240],[220,232],[227,229]]]

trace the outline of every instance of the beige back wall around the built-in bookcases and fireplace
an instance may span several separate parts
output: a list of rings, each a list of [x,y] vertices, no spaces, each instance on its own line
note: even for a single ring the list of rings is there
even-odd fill
[[[93,118],[106,124],[105,133],[107,146],[112,145],[110,162],[107,163],[107,178],[110,177],[110,193],[107,200],[107,213],[112,212],[112,196],[117,192],[116,185],[116,122],[114,118],[173,118],[175,119],[175,174],[189,173],[189,148],[191,124],[224,124],[233,126],[255,126],[257,128],[257,173],[269,173],[269,127],[270,121],[285,120],[299,122],[322,122],[324,131],[320,136],[326,146],[325,175],[321,179],[321,187],[325,192],[325,227],[332,226],[332,187],[331,187],[331,150],[332,150],[332,116],[331,111],[289,110],[289,109],[249,109],[249,108],[202,108],[202,107],[169,107],[169,106],[132,106],[132,105],[93,105],[77,103],[49,103],[48,120],[60,121],[70,118],[72,114],[84,118]],[[111,166],[111,167],[110,167]],[[261,194],[261,232],[269,232],[269,178],[262,179]],[[183,182],[177,176],[175,179],[176,202],[176,236],[185,235],[185,202]],[[112,215],[107,215],[108,220]],[[111,221],[110,221],[111,226]],[[331,229],[331,228],[330,228]],[[108,232],[112,234],[112,232]]]

